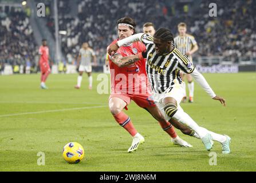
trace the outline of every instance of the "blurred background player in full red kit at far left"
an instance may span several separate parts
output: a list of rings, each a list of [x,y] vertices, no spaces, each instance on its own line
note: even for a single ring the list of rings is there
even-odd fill
[[[48,87],[45,85],[46,79],[48,78],[48,75],[50,74],[50,54],[49,54],[49,47],[47,46],[47,40],[42,39],[42,45],[39,48],[39,65],[41,70],[41,88],[42,89],[48,89]]]

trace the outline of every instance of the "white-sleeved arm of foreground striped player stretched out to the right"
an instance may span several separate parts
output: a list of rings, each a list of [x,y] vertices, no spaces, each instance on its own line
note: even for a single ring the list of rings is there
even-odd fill
[[[203,77],[202,74],[199,73],[198,70],[194,69],[194,71],[191,73],[192,77],[194,77],[195,81],[199,83],[199,85],[208,93],[209,96],[213,100],[218,100],[223,106],[226,106],[226,101],[224,98],[216,96],[214,91],[211,89],[210,85],[206,81],[206,79]]]

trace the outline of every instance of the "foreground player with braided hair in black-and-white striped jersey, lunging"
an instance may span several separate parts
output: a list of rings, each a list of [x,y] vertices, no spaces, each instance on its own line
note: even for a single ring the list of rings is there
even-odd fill
[[[132,35],[110,46],[108,53],[113,54],[120,46],[137,41],[145,44],[147,52],[125,57],[116,64],[123,67],[131,65],[141,57],[147,58],[146,70],[154,93],[153,100],[162,110],[162,113],[166,115],[167,120],[174,118],[194,130],[207,150],[211,150],[214,144],[212,140],[215,140],[222,144],[222,153],[229,154],[231,141],[229,136],[220,135],[202,128],[179,105],[183,98],[180,70],[191,74],[213,100],[220,101],[224,106],[226,106],[226,101],[224,98],[216,96],[203,75],[195,69],[193,63],[176,49],[171,31],[166,28],[160,28],[153,37],[143,33]]]

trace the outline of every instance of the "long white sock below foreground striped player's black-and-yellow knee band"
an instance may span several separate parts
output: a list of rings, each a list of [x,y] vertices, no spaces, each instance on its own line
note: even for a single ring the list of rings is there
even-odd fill
[[[194,130],[198,134],[199,138],[203,138],[204,136],[206,136],[207,130],[200,128],[200,126],[198,126],[198,124],[196,124],[196,122],[192,120],[192,118],[188,116],[188,114],[185,113],[183,110],[178,109],[178,111],[174,114],[173,118],[175,118],[179,122],[182,122],[182,124],[188,126],[188,128]]]

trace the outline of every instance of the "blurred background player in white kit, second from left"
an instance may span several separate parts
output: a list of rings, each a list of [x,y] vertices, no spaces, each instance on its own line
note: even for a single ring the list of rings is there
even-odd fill
[[[97,65],[96,55],[94,51],[89,47],[87,42],[82,44],[81,49],[79,50],[77,58],[77,67],[79,75],[77,77],[77,85],[74,86],[76,89],[80,89],[82,82],[82,73],[86,72],[89,79],[89,89],[92,89],[92,59],[94,65]]]

